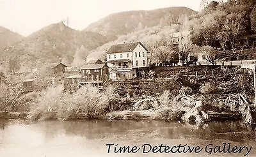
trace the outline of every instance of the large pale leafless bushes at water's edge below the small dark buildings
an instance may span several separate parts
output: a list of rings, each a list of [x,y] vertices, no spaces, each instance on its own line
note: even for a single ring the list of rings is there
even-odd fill
[[[63,86],[48,87],[37,93],[35,103],[31,103],[29,119],[72,119],[83,117],[97,117],[109,109],[109,100],[115,98],[113,87],[100,92],[97,87],[87,85],[76,93],[63,92]]]

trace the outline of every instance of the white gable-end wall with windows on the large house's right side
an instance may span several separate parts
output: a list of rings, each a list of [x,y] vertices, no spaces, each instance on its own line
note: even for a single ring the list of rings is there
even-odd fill
[[[136,64],[136,61],[138,62],[138,64]],[[143,64],[143,61],[145,61],[145,64]],[[141,68],[146,66],[148,66],[147,50],[145,50],[144,47],[138,44],[137,47],[132,51],[132,67]]]

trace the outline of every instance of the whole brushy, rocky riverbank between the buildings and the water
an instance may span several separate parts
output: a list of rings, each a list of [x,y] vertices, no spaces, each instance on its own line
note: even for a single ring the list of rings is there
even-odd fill
[[[172,79],[108,82],[104,90],[88,85],[68,91],[60,84],[17,95],[15,101],[8,101],[4,106],[4,110],[14,112],[3,112],[0,117],[161,119],[198,123],[243,119],[255,123],[251,75],[223,73],[196,77],[177,73]]]

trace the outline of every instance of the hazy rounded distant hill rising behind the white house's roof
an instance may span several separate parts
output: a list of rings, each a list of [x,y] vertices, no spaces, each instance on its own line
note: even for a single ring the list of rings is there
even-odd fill
[[[171,17],[177,21],[180,15],[191,15],[193,13],[196,13],[196,11],[186,7],[160,8],[149,11],[125,11],[108,15],[98,22],[90,24],[84,31],[93,31],[106,36],[119,36],[145,27],[157,26],[164,17]]]

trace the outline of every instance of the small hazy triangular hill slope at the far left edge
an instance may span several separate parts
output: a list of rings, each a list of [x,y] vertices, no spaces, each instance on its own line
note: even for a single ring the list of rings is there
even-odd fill
[[[10,47],[22,38],[24,38],[24,36],[0,26],[0,50]]]

